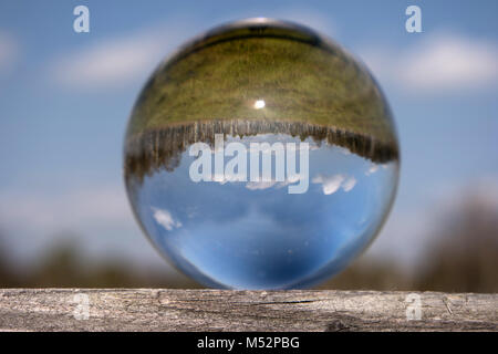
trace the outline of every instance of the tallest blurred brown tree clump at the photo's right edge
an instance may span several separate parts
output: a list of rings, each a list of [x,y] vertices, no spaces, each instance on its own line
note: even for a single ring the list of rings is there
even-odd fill
[[[498,291],[498,211],[481,197],[466,198],[442,220],[415,283],[421,290]],[[435,235],[436,236],[436,235]]]

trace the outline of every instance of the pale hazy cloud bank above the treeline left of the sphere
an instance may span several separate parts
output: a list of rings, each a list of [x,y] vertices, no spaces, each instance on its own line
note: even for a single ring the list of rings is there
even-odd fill
[[[13,261],[31,263],[63,240],[74,240],[77,251],[92,258],[165,268],[141,235],[121,184],[44,194],[0,191],[0,241]]]

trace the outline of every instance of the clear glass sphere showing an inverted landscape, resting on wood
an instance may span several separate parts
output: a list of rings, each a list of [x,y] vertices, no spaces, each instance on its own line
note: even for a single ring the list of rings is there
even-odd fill
[[[129,118],[124,174],[144,232],[196,281],[303,288],[375,238],[398,144],[362,63],[310,29],[251,19],[157,67]]]

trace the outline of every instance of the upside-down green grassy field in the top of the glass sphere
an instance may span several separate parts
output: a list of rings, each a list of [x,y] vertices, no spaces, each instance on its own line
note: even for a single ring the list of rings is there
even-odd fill
[[[278,27],[238,28],[184,48],[145,85],[128,136],[209,119],[301,122],[396,144],[390,110],[361,65],[338,46]]]

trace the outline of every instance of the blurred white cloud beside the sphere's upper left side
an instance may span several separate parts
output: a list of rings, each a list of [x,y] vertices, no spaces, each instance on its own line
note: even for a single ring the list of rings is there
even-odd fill
[[[108,87],[145,81],[154,67],[188,33],[180,24],[149,29],[132,35],[110,38],[54,60],[50,73],[73,87]]]

